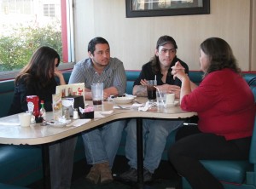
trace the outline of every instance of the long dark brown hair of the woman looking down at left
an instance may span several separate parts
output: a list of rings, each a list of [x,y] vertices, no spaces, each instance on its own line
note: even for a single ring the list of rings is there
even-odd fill
[[[59,66],[60,55],[47,46],[38,48],[29,63],[20,71],[15,78],[15,83],[19,83],[20,79],[24,79],[27,84],[31,79],[37,79],[42,86],[47,86],[49,81],[54,77],[55,72],[55,59],[58,59]]]

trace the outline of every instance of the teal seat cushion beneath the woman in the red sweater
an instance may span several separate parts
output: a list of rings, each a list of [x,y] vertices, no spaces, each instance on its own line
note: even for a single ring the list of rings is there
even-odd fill
[[[241,184],[246,180],[246,172],[253,169],[248,161],[202,160],[201,163],[218,180]]]

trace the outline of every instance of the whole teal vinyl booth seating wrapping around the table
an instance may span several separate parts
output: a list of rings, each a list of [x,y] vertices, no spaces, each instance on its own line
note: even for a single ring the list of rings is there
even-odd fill
[[[125,71],[127,77],[126,93],[132,94],[132,86],[135,79],[139,76],[140,71]],[[65,81],[68,82],[71,72],[63,73]],[[189,72],[189,77],[194,83],[201,83],[202,72]],[[245,73],[244,76],[247,83],[249,83],[253,77],[256,77],[256,73]],[[255,101],[256,101],[256,84],[251,86]],[[10,103],[14,95],[14,81],[0,82],[0,117],[7,115]],[[255,133],[255,130],[254,130]],[[162,160],[168,160],[167,152],[172,143],[174,142],[176,132],[172,132],[166,140],[166,148],[162,154]],[[118,155],[125,155],[125,135],[119,145]],[[255,135],[255,134],[254,134]],[[227,182],[238,183],[241,188],[241,183],[246,184],[247,188],[255,188],[255,163],[256,163],[256,139],[253,139],[253,152],[251,153],[250,162],[237,162],[237,161],[206,161],[206,166],[212,169],[216,176],[220,180]],[[85,158],[84,144],[82,137],[79,136],[75,154],[74,162],[78,162]],[[228,168],[226,168],[228,167]],[[250,171],[249,171],[250,170]],[[230,175],[231,173],[231,175]],[[0,144],[0,188],[6,189],[22,189],[29,186],[35,181],[43,178],[42,170],[42,157],[41,146],[13,146]],[[184,180],[184,188],[189,188],[188,183]],[[234,185],[229,185],[234,186]],[[233,188],[233,187],[226,187]]]

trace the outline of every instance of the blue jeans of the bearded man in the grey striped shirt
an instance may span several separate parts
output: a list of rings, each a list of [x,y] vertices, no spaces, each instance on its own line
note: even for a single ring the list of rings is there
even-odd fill
[[[118,120],[84,132],[82,137],[87,163],[108,162],[112,168],[124,127],[125,120]]]

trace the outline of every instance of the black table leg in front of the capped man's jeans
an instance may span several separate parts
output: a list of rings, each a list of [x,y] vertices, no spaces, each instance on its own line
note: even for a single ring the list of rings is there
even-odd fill
[[[143,180],[143,118],[137,117],[137,188],[143,188]]]

